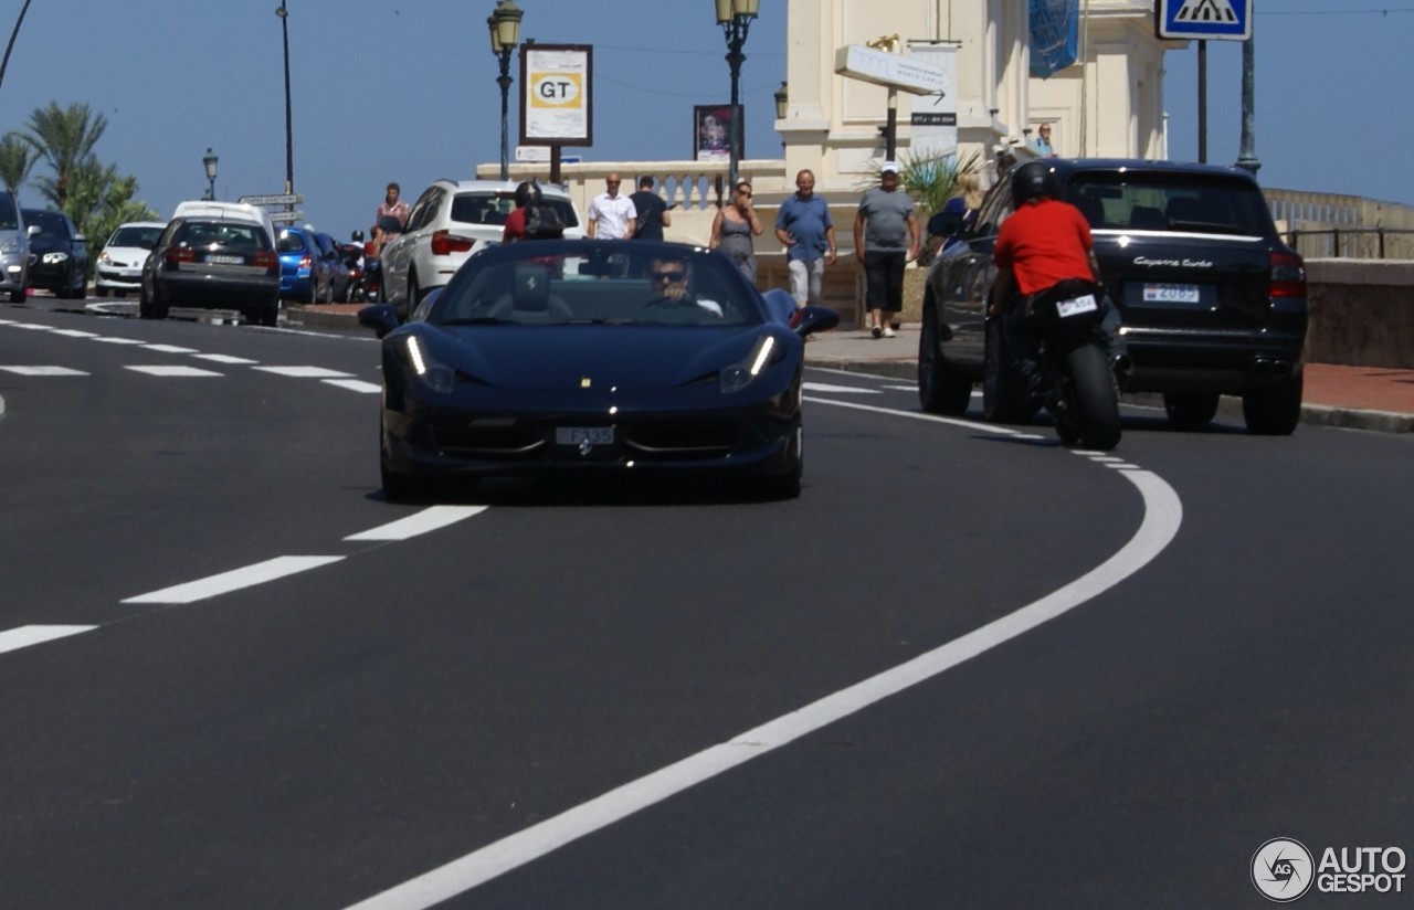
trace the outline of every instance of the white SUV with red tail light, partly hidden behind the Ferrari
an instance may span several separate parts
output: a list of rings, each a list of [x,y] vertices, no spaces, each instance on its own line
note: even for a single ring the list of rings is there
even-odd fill
[[[438,179],[424,189],[407,215],[407,229],[379,256],[383,300],[406,318],[477,249],[501,243],[506,215],[516,208],[516,187],[513,181]],[[540,195],[559,209],[566,239],[584,237],[584,222],[567,192],[542,184]]]

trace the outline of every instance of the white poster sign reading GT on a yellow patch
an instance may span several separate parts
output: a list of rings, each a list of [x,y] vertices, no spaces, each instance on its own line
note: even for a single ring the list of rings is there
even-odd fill
[[[594,48],[520,45],[520,144],[594,144]]]

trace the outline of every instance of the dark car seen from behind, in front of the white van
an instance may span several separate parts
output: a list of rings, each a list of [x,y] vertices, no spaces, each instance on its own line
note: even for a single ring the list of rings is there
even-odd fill
[[[171,307],[239,309],[247,322],[274,325],[280,315],[280,260],[256,220],[174,218],[143,266],[144,319]]]

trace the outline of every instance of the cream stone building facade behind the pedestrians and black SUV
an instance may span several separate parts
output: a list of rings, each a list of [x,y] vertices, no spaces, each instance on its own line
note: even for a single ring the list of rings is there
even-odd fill
[[[836,49],[898,35],[956,47],[959,155],[990,162],[1052,126],[1066,157],[1165,155],[1164,51],[1152,0],[1079,0],[1077,62],[1031,75],[1027,0],[786,0],[788,106],[776,130],[785,172],[855,187],[882,160],[888,89],[834,72]],[[908,155],[913,95],[898,92],[896,154]],[[788,178],[789,179],[789,178]]]

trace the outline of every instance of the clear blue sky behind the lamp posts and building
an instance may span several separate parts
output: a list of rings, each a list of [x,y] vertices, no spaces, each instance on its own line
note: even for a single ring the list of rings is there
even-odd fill
[[[23,0],[0,0],[7,40]],[[595,47],[595,146],[585,160],[686,158],[691,106],[730,96],[711,0],[518,0],[522,37]],[[33,0],[0,85],[0,130],[51,100],[107,117],[105,162],[136,174],[139,198],[170,213],[216,195],[284,185],[279,0]],[[493,0],[287,0],[294,184],[307,219],[345,237],[366,229],[383,185],[409,198],[438,177],[499,161],[498,66],[485,20]],[[748,155],[775,155],[772,93],[785,78],[785,3],[762,0],[747,42]],[[1414,3],[1256,0],[1260,179],[1414,203],[1401,158],[1414,146]],[[81,21],[79,21],[81,20]],[[1195,160],[1196,45],[1168,55],[1172,157]],[[1213,162],[1237,158],[1240,44],[1209,44]],[[519,88],[519,83],[518,86]],[[512,89],[512,146],[515,92]],[[38,194],[23,189],[27,203]]]

